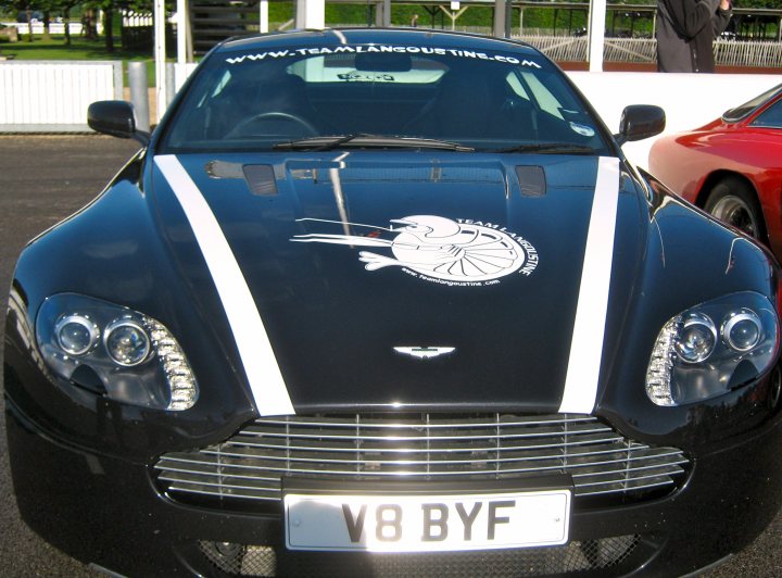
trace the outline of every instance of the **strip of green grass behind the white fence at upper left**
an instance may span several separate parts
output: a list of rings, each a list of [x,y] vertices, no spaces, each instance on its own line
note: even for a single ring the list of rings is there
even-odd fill
[[[149,51],[124,50],[119,46],[119,38],[114,39],[114,52],[105,49],[103,38],[87,40],[79,36],[71,37],[71,46],[65,46],[63,36],[52,36],[43,39],[35,36],[33,42],[27,36],[20,37],[18,42],[0,42],[0,55],[14,60],[122,60],[125,71],[125,86],[127,85],[127,63],[129,61],[143,61],[147,63],[147,79],[154,86],[154,58],[152,47]]]

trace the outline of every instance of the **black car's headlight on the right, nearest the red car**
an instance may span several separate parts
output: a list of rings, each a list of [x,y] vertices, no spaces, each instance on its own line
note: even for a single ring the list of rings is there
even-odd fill
[[[756,379],[774,360],[778,317],[759,293],[702,303],[663,326],[646,369],[657,405],[707,400]]]

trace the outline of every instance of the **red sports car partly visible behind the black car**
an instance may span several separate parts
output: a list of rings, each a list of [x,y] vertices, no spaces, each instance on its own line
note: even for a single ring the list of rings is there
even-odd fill
[[[706,126],[660,138],[649,171],[782,259],[782,85]]]

